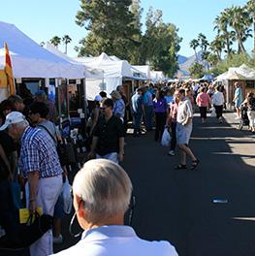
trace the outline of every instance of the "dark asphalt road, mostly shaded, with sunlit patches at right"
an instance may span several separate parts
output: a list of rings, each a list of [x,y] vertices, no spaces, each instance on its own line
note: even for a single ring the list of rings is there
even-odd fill
[[[195,117],[190,146],[201,163],[194,171],[176,171],[178,152],[168,156],[153,131],[126,142],[123,167],[136,196],[132,226],[141,238],[169,240],[180,256],[255,255],[254,138]],[[56,251],[77,241],[68,235],[69,219]]]

